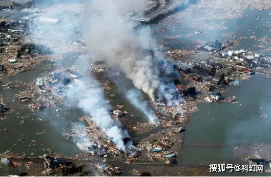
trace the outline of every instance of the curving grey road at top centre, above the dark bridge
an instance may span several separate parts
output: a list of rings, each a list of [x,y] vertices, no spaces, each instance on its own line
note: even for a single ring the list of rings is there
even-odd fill
[[[167,12],[175,9],[181,3],[186,3],[186,2],[188,2],[188,0],[170,0],[170,2],[167,4],[166,0],[160,0],[160,7],[158,10],[146,16],[137,15],[137,16],[131,17],[130,20],[149,22],[151,19],[156,18],[159,15],[166,14]]]

